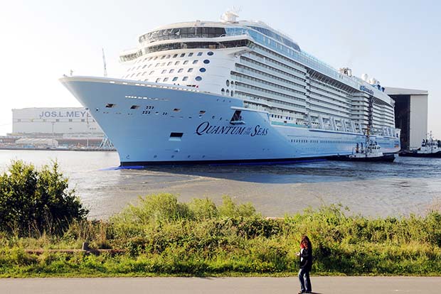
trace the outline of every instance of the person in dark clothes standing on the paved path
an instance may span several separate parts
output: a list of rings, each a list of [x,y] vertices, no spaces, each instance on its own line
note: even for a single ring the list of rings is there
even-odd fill
[[[300,258],[299,293],[312,293],[311,280],[309,280],[309,272],[312,268],[312,245],[308,236],[302,236],[300,251],[297,252],[297,256]]]

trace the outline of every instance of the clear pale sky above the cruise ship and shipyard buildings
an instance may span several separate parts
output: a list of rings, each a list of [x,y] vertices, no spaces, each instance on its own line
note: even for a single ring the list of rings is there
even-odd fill
[[[429,126],[441,138],[441,1],[133,1],[14,0],[0,9],[0,134],[11,109],[78,107],[58,82],[63,74],[119,77],[119,53],[137,36],[179,21],[218,20],[231,7],[260,20],[300,48],[382,85],[427,89]]]

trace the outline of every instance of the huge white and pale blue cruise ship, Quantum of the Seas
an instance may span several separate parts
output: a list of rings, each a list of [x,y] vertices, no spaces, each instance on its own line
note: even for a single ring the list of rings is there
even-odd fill
[[[398,153],[394,102],[375,79],[335,70],[261,21],[161,26],[120,55],[120,78],[63,77],[122,166],[291,163],[344,156],[366,132]]]

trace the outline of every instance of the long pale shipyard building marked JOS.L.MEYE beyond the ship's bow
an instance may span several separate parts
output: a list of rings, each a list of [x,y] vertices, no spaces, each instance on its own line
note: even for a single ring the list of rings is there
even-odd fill
[[[57,142],[57,146],[100,146],[104,134],[85,108],[12,109],[12,133],[16,143],[32,140]],[[50,139],[50,140],[48,140]],[[53,144],[55,145],[55,144]]]

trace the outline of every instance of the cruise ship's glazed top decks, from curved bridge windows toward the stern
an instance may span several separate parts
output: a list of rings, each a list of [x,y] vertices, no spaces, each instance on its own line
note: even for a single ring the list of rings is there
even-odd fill
[[[160,26],[139,36],[138,48],[124,51],[120,59],[122,62],[130,61],[159,50],[208,48],[208,44],[215,46],[214,48],[225,48],[228,44],[225,45],[223,41],[226,40],[251,40],[253,43],[275,51],[284,58],[299,62],[344,85],[371,94],[383,103],[393,105],[392,99],[383,92],[382,87],[371,85],[358,77],[341,74],[334,67],[301,50],[299,45],[285,34],[261,21],[191,21]],[[201,47],[201,43],[206,43],[207,46]],[[232,46],[246,46],[247,44],[233,43]]]

